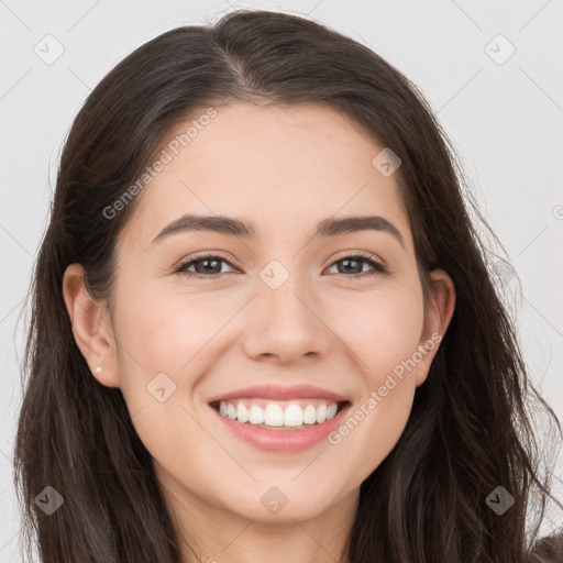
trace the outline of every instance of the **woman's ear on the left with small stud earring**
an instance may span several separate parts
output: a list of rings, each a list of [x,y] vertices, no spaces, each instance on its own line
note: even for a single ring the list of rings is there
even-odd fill
[[[96,379],[119,387],[118,355],[111,320],[104,302],[92,300],[84,284],[81,264],[70,264],[63,277],[63,296],[76,344]],[[101,371],[97,371],[100,366]]]

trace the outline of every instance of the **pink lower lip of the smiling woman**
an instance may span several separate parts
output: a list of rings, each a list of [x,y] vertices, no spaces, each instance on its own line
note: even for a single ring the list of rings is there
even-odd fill
[[[334,418],[308,428],[297,430],[268,430],[253,424],[239,422],[223,417],[213,407],[210,407],[221,422],[234,435],[251,445],[269,452],[301,452],[318,444],[334,431],[342,422],[342,418],[350,404],[345,405]],[[283,428],[283,427],[279,427]]]

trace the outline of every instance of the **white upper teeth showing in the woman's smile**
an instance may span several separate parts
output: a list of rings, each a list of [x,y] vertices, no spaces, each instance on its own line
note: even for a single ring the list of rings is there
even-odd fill
[[[223,417],[239,420],[239,422],[266,424],[268,427],[300,427],[301,424],[314,424],[316,422],[320,424],[334,418],[336,410],[338,405],[335,402],[321,404],[317,408],[308,405],[305,409],[292,404],[285,409],[275,402],[269,402],[265,409],[258,405],[252,405],[249,409],[242,402],[239,402],[235,407],[224,400],[219,404],[219,412]]]

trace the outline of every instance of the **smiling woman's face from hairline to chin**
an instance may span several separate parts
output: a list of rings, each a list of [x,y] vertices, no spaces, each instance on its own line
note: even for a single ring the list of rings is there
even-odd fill
[[[89,361],[122,389],[178,499],[303,520],[355,501],[397,443],[452,299],[424,317],[396,175],[374,166],[383,146],[366,133],[320,106],[216,111],[178,154],[163,145],[169,162],[118,242],[115,345]],[[185,214],[236,219],[250,234],[166,232]],[[376,219],[338,229],[358,216]],[[332,232],[317,233],[327,220]],[[451,291],[444,273],[433,278]],[[233,395],[227,416],[211,404]],[[333,418],[319,423],[322,405]],[[297,427],[272,429],[279,421]]]

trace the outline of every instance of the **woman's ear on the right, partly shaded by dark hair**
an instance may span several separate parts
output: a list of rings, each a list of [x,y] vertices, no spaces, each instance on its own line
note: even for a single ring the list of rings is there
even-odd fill
[[[417,365],[417,387],[422,385],[428,377],[430,365],[440,347],[440,342],[448,330],[455,308],[455,287],[452,278],[443,269],[432,271],[430,277],[434,291],[430,296],[419,341],[418,350],[422,360]]]

